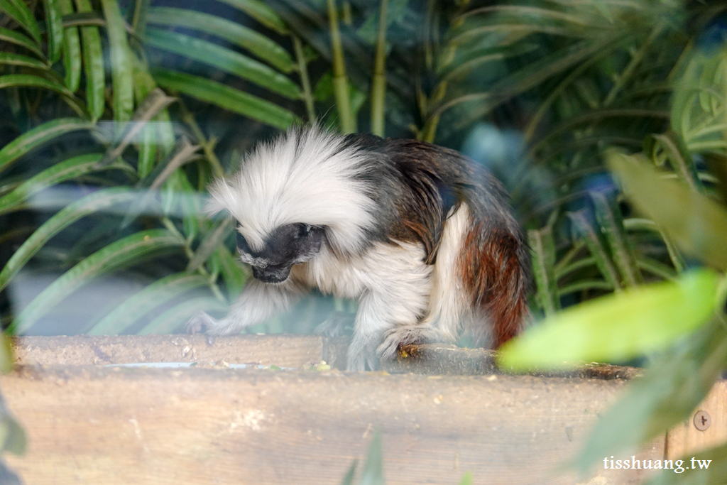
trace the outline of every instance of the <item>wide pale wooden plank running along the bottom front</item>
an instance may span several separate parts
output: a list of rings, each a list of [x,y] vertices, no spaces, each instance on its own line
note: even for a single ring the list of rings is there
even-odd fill
[[[8,462],[28,485],[338,484],[377,428],[390,484],[457,484],[467,470],[475,484],[575,484],[561,465],[623,385],[98,366],[0,377],[30,440]],[[638,480],[595,471],[598,484]]]

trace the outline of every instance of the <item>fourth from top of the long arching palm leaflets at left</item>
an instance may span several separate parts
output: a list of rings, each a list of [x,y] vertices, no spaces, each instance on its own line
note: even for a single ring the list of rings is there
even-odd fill
[[[63,273],[40,292],[20,312],[9,330],[14,334],[27,332],[41,316],[93,278],[136,265],[160,252],[176,249],[183,242],[169,231],[151,229],[134,233],[105,246]]]

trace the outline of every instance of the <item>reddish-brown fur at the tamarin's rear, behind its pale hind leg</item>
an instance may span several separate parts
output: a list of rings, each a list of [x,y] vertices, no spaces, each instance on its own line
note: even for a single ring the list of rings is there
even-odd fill
[[[499,348],[529,315],[529,252],[519,233],[484,222],[471,225],[464,242],[459,269],[471,305],[483,317],[472,332],[479,340],[489,335],[491,347]]]

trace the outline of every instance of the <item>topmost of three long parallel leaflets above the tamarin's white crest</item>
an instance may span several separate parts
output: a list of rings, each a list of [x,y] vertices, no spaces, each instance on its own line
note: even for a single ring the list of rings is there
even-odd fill
[[[217,17],[217,15],[189,9],[155,7],[149,11],[148,21],[149,23],[161,25],[191,28],[195,31],[226,39],[232,44],[249,50],[265,63],[278,68],[284,73],[289,73],[294,68],[289,53],[275,41],[252,30],[252,28]]]

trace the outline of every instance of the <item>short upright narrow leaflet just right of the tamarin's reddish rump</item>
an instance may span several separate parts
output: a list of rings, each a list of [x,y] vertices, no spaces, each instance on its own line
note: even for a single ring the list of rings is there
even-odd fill
[[[528,231],[528,242],[533,258],[533,272],[537,285],[537,299],[546,316],[561,309],[558,285],[555,281],[555,241],[550,226],[539,231]]]

